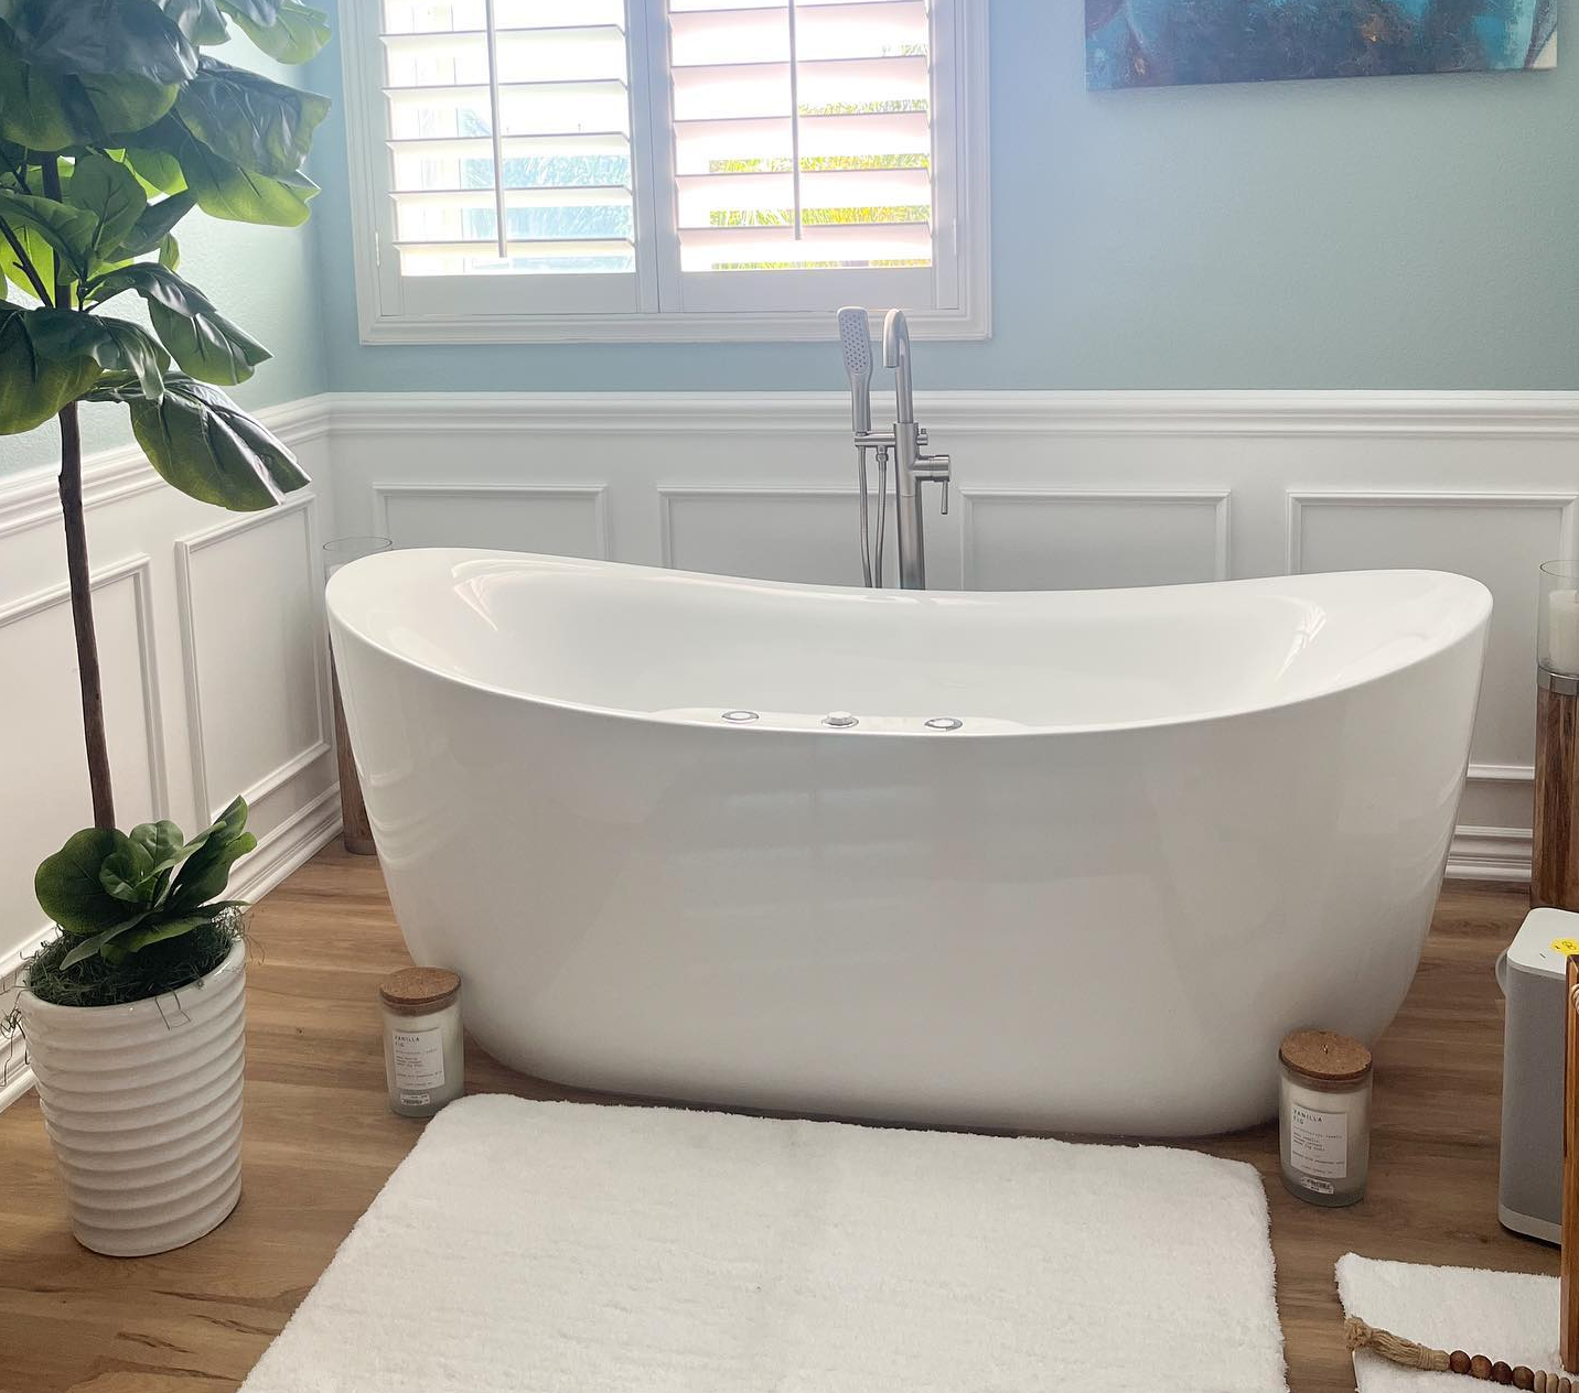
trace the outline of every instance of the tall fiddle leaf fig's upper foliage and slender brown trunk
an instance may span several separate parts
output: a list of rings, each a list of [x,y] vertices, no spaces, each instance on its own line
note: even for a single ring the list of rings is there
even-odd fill
[[[221,388],[268,352],[180,274],[193,210],[294,227],[322,96],[210,54],[279,63],[328,39],[297,0],[0,0],[0,434],[60,431],[60,506],[93,822],[115,827],[82,519],[82,402],[120,405],[174,487],[221,508],[308,480]],[[141,300],[147,325],[125,317]]]

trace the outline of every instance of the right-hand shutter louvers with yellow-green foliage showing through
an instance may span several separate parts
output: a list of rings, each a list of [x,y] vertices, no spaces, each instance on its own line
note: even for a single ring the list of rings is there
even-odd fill
[[[684,273],[928,267],[927,0],[668,0]]]

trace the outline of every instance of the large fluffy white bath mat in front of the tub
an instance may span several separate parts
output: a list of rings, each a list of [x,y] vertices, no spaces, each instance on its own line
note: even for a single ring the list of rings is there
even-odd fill
[[[1285,1388],[1249,1166],[483,1096],[243,1393],[1102,1387]]]

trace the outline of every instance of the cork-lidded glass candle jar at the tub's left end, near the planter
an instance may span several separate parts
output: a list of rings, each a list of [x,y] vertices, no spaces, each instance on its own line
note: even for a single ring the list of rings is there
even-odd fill
[[[442,967],[406,967],[379,983],[390,1109],[433,1117],[466,1089],[461,980]]]

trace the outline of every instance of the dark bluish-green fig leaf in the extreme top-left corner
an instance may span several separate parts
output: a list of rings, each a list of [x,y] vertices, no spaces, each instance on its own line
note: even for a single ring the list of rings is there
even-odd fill
[[[30,0],[11,21],[21,57],[60,73],[189,82],[197,50],[152,0]]]

